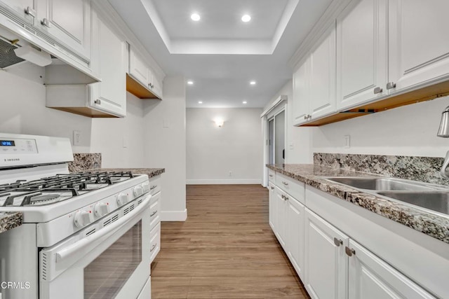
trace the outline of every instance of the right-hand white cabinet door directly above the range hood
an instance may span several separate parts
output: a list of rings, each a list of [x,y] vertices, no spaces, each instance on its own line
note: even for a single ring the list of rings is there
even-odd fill
[[[81,59],[91,59],[91,0],[35,0],[35,26]]]

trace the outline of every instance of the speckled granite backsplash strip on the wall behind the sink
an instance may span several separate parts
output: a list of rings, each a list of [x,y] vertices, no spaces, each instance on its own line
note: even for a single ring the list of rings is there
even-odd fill
[[[333,168],[370,172],[413,181],[449,186],[449,179],[440,175],[443,158],[403,155],[355,155],[314,153],[314,164]]]

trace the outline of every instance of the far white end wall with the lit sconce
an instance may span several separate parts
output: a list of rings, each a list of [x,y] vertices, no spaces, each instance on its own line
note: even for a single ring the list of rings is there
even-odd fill
[[[262,109],[187,109],[187,183],[261,183],[260,113]],[[222,127],[215,125],[216,118],[225,120]]]

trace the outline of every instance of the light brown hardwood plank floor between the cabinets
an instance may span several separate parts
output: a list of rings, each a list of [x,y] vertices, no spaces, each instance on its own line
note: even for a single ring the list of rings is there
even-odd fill
[[[269,227],[266,188],[187,186],[187,212],[161,223],[152,299],[309,298]]]

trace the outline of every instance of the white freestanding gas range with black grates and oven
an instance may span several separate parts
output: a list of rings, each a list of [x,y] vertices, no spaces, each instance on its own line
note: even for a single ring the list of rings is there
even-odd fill
[[[150,298],[147,175],[69,174],[69,139],[0,133],[2,299]]]

